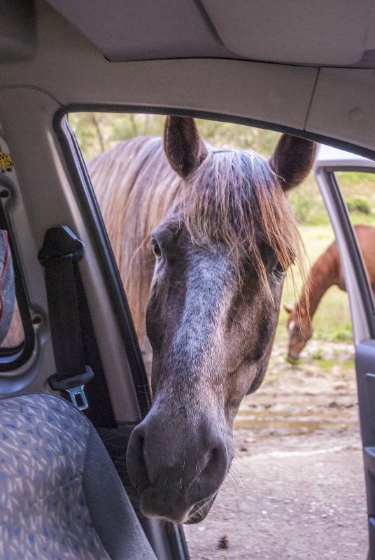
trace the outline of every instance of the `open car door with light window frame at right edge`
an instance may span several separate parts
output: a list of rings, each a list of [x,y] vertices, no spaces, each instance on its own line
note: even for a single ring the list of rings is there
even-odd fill
[[[336,235],[351,307],[367,491],[368,557],[372,560],[375,559],[375,306],[358,239],[339,188],[337,176],[343,172],[374,174],[375,162],[321,146],[316,158],[316,180]]]

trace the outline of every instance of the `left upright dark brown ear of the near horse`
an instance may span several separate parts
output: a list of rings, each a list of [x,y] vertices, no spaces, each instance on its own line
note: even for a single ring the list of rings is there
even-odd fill
[[[207,150],[193,118],[167,117],[164,125],[164,151],[171,167],[183,179],[201,165]]]

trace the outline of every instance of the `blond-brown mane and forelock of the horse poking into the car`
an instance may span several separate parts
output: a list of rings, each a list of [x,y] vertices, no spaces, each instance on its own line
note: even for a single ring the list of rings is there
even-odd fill
[[[299,234],[276,174],[253,151],[217,150],[183,181],[165,157],[162,139],[138,137],[87,164],[125,287],[134,326],[143,339],[155,259],[152,230],[171,208],[194,242],[224,243],[251,256],[268,286],[260,242],[273,248],[283,269],[299,254]]]

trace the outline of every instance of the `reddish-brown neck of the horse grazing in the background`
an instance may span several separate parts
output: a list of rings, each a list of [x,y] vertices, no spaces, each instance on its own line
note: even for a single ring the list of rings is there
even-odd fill
[[[300,309],[306,309],[312,318],[320,300],[330,286],[339,282],[340,260],[337,244],[333,243],[311,268],[299,300]]]

